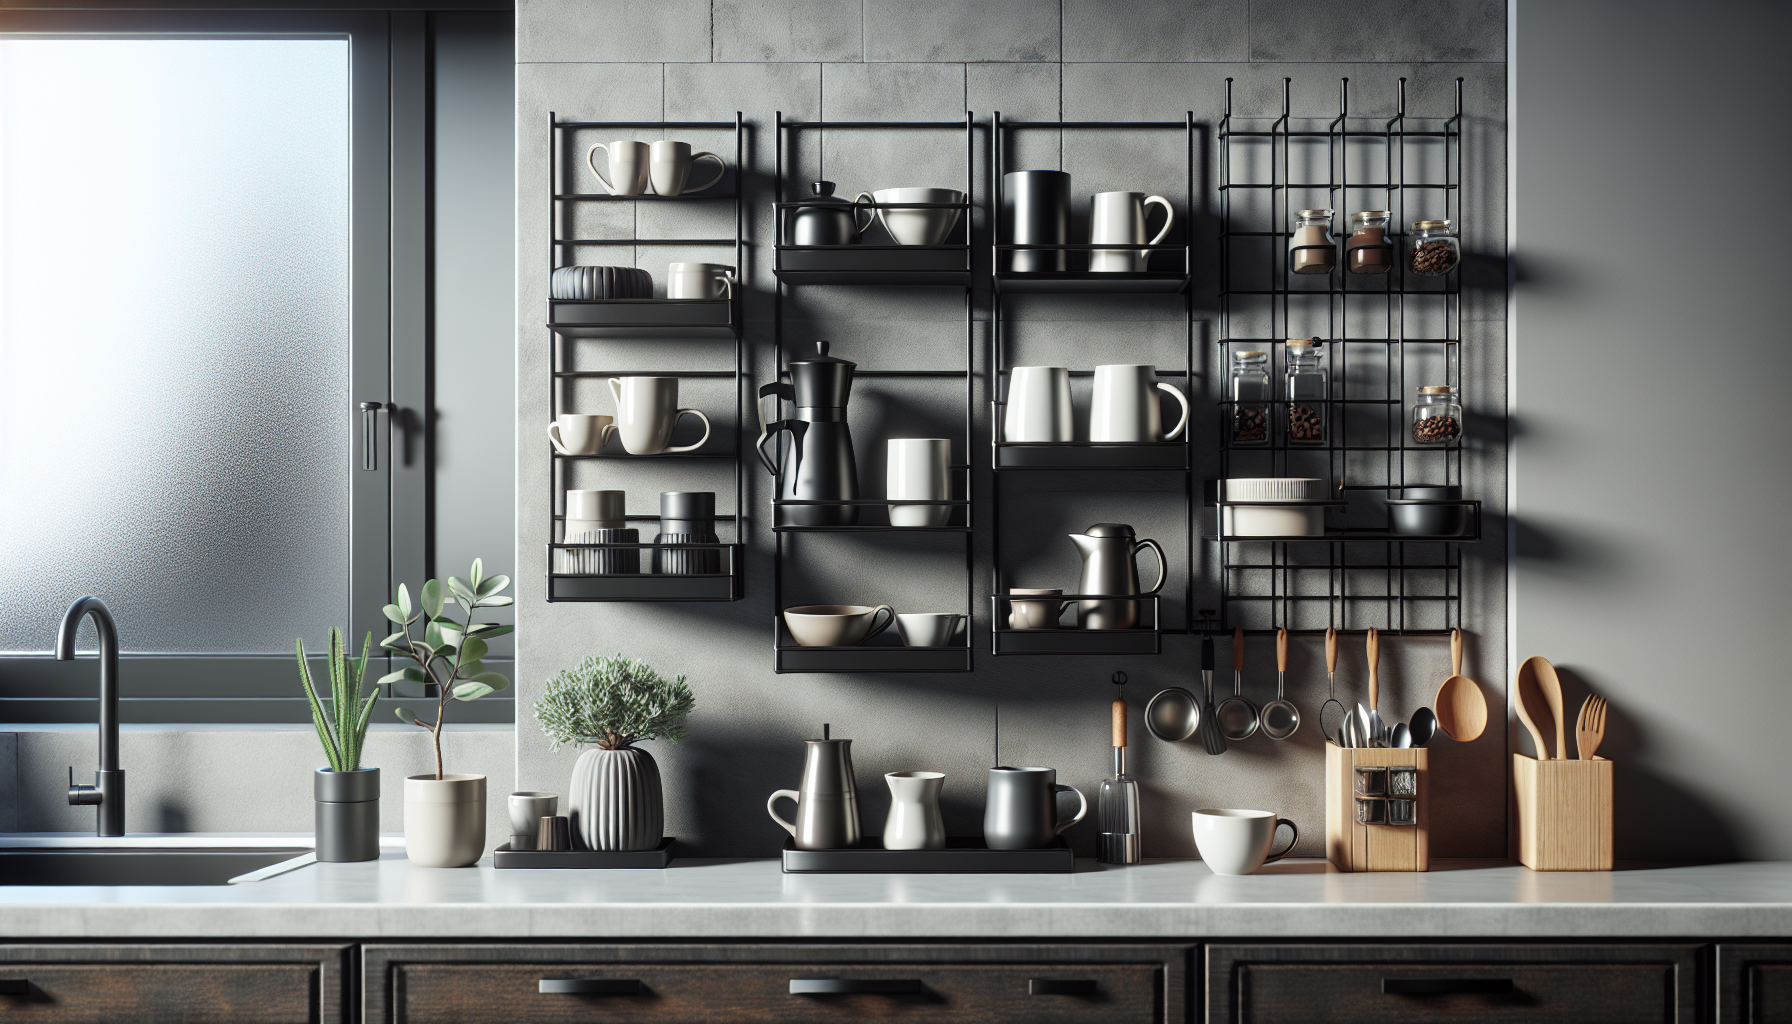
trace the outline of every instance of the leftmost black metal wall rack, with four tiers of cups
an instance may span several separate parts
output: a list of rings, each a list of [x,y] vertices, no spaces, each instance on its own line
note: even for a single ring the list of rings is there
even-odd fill
[[[606,192],[581,192],[568,187],[561,178],[561,167],[568,160],[572,133],[582,129],[620,129],[620,131],[731,131],[735,136],[735,187],[733,190],[704,190],[685,195],[611,195]],[[735,120],[559,120],[548,113],[548,274],[563,265],[575,265],[581,249],[611,251],[629,249],[629,262],[634,262],[634,249],[640,246],[715,246],[733,247],[737,280],[744,264],[742,246],[742,154],[745,127],[740,113]],[[582,165],[584,161],[577,161]],[[731,239],[579,239],[563,235],[563,228],[572,224],[570,212],[582,203],[717,203],[729,201],[735,206],[735,231]],[[733,511],[717,515],[717,525],[726,524],[731,540],[713,543],[564,543],[547,545],[547,599],[548,601],[740,601],[745,595],[745,565],[742,558],[742,538],[745,516],[742,515],[742,463],[740,463],[740,423],[742,391],[745,386],[745,353],[740,335],[740,289],[731,289],[726,299],[607,299],[575,301],[548,299],[548,420],[552,421],[572,405],[572,389],[582,378],[607,377],[677,377],[681,380],[722,378],[733,384],[735,391],[735,438],[733,454],[663,454],[631,456],[622,450],[620,441],[611,441],[595,456],[563,456],[548,447],[554,470],[548,473],[548,509],[552,516],[550,531],[557,533],[563,515],[563,495],[570,466],[579,461],[634,461],[634,459],[686,459],[686,461],[733,461],[735,499]],[[733,369],[577,369],[575,351],[581,341],[650,341],[650,339],[728,339],[733,341]],[[713,438],[711,438],[713,441]],[[710,445],[704,445],[706,448]],[[631,515],[631,524],[658,524],[658,515]],[[550,533],[550,536],[554,536]],[[658,533],[658,531],[656,531]],[[586,572],[599,565],[634,565],[652,568],[654,556],[672,560],[685,554],[690,563],[711,561],[717,572]],[[708,558],[702,558],[708,554]]]

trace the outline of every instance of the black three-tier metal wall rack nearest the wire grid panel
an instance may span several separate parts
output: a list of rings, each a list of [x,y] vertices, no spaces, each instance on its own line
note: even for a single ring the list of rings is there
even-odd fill
[[[991,115],[989,161],[989,219],[991,219],[991,317],[989,317],[989,461],[995,473],[991,493],[991,522],[995,529],[989,540],[991,556],[991,594],[989,594],[989,649],[993,655],[1158,655],[1163,651],[1163,633],[1186,633],[1190,608],[1193,604],[1195,577],[1195,509],[1193,509],[1193,447],[1195,432],[1193,411],[1183,429],[1179,441],[1140,441],[1140,443],[1097,443],[1097,441],[1004,441],[1002,425],[1005,411],[1004,378],[1009,375],[1004,359],[1004,299],[1009,294],[1181,294],[1183,296],[1183,368],[1159,369],[1158,377],[1183,378],[1193,404],[1193,368],[1195,368],[1195,308],[1193,308],[1193,213],[1195,213],[1195,115],[1188,111],[1183,120],[1152,122],[1059,122],[1059,120],[1002,120],[1002,111]],[[1077,242],[1077,244],[1018,244],[1002,237],[1004,210],[1004,131],[1057,129],[1057,131],[1181,131],[1185,142],[1185,178],[1183,178],[1183,242],[1159,242],[1156,246],[1115,244],[1115,242]],[[1093,249],[1140,249],[1149,253],[1181,251],[1181,267],[1174,271],[1138,271],[1138,273],[1097,273],[1088,269],[1064,271],[1011,271],[1004,269],[1004,256],[1021,249],[1090,253]],[[1068,265],[1068,262],[1066,262]],[[1091,369],[1072,369],[1072,377],[1090,377]],[[1009,610],[1014,601],[1009,597],[1009,583],[1002,572],[1002,475],[1007,472],[1113,472],[1113,470],[1165,470],[1183,473],[1183,610],[1185,624],[1165,629],[1161,619],[1161,597],[1142,595],[1134,601],[1140,610],[1140,628],[1134,629],[1012,629],[1009,628]],[[1165,565],[1168,574],[1168,565]],[[1064,606],[1075,604],[1081,595],[1064,594],[1057,599]],[[1109,597],[1111,599],[1111,597]],[[1147,624],[1149,622],[1149,624]]]

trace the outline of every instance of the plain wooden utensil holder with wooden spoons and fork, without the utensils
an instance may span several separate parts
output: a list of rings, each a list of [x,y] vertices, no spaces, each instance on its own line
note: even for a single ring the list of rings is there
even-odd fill
[[[1518,859],[1532,872],[1611,870],[1611,762],[1512,755]]]

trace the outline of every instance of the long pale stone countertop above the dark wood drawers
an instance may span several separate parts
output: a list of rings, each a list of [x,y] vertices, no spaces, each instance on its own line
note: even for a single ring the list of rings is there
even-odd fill
[[[1199,861],[1072,875],[785,875],[776,861],[649,872],[414,868],[387,852],[238,886],[0,886],[18,938],[1787,938],[1792,863],[1536,873],[1443,863],[1348,875]]]

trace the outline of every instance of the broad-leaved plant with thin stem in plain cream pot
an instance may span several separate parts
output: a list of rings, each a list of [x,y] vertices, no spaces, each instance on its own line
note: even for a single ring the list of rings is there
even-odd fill
[[[500,597],[509,585],[509,576],[486,576],[484,563],[475,558],[464,583],[448,577],[446,595],[441,581],[430,579],[412,604],[410,592],[400,583],[398,601],[385,606],[385,617],[398,631],[380,646],[414,664],[380,681],[423,683],[425,694],[435,698],[430,721],[410,708],[396,708],[400,721],[430,730],[435,741],[435,775],[405,778],[405,855],[425,868],[466,868],[486,854],[486,777],[443,771],[443,725],[450,703],[477,701],[511,685],[504,674],[486,671],[480,658],[486,656],[486,640],[509,633],[513,626],[473,622],[477,610],[511,603]],[[450,601],[466,612],[464,620],[443,613]],[[412,626],[421,626],[423,635],[412,635]]]

